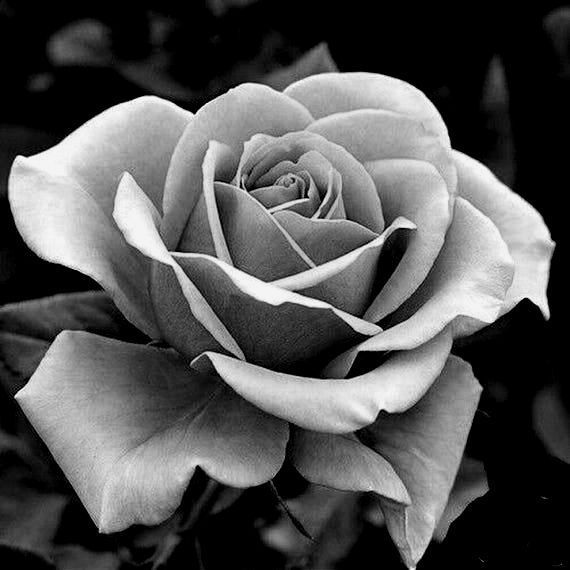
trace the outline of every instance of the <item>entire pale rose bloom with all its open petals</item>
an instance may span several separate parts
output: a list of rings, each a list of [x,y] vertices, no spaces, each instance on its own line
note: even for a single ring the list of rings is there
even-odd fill
[[[248,487],[287,457],[375,493],[413,566],[480,395],[453,340],[548,313],[541,217],[390,77],[135,99],[19,157],[9,192],[28,245],[149,337],[66,331],[17,396],[104,532],[165,520],[197,466]]]

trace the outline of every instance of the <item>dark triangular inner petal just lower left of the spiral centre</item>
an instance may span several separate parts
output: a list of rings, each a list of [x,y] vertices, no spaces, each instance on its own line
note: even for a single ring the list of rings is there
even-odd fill
[[[215,196],[220,226],[237,268],[272,281],[315,266],[276,218],[248,192],[216,182]]]

